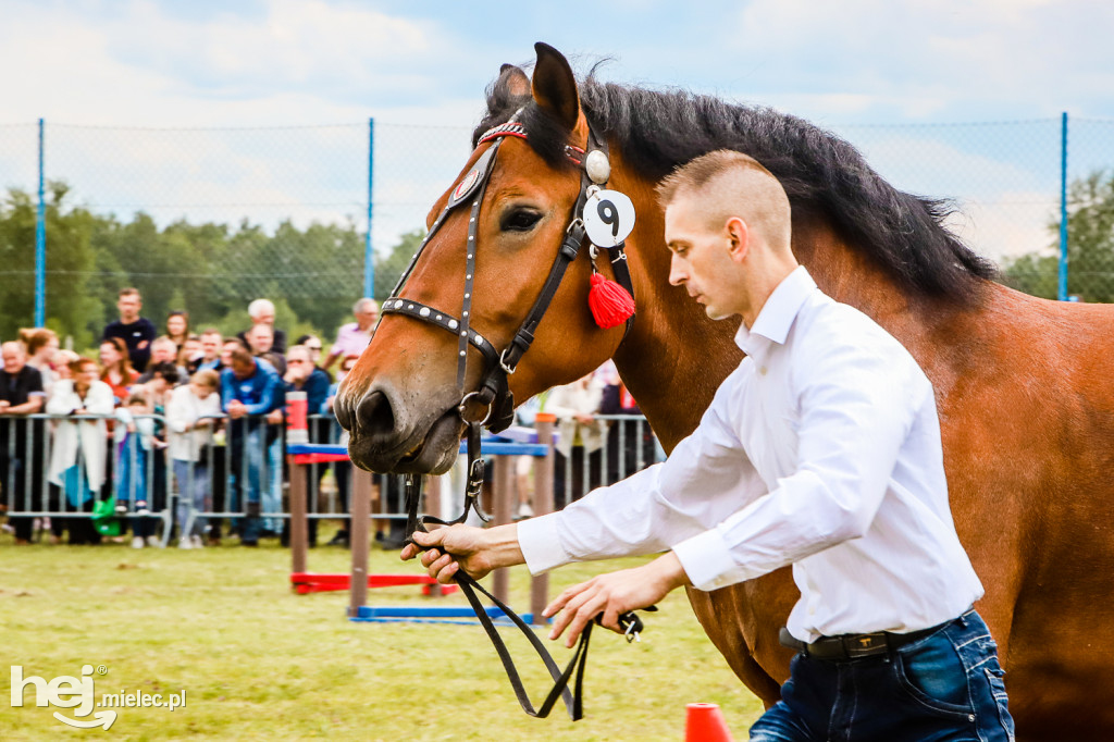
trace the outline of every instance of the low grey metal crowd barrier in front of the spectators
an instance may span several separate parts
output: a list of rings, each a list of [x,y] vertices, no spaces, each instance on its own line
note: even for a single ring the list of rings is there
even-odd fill
[[[558,457],[557,507],[664,459],[642,416],[598,419],[608,426],[600,449],[584,455],[574,448],[571,456]],[[46,518],[52,535],[61,537],[69,530],[71,543],[95,540],[95,524],[101,525],[104,535],[130,533],[133,539],[153,539],[160,546],[175,531],[179,537],[202,538],[218,536],[225,526],[238,530],[242,541],[280,535],[290,518],[284,497],[289,487],[285,427],[263,418],[213,420],[216,435],[197,451],[196,461],[185,461],[168,459],[165,449],[153,442],[152,436],[165,429],[162,416],[136,416],[136,430],[127,435],[126,423],[116,416],[4,416],[0,418],[0,510],[16,536],[27,539],[41,536]],[[311,442],[343,442],[331,416],[309,416],[307,422]],[[74,445],[74,439],[79,442]],[[516,486],[532,481],[525,466],[531,462],[528,459],[521,462]],[[349,517],[351,465],[306,466],[306,509],[311,541],[315,541],[317,521]],[[442,479],[441,507],[448,517],[462,509],[463,468],[461,457],[455,471]],[[382,540],[397,540],[405,519],[403,478],[377,475],[368,496]],[[527,491],[519,492],[519,500],[529,501]],[[37,519],[39,530],[35,529]],[[111,526],[114,520],[118,529]]]

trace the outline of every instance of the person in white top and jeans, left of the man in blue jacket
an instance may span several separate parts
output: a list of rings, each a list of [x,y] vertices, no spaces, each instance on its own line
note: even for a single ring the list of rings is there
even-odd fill
[[[178,482],[178,548],[201,548],[205,519],[196,512],[207,510],[212,496],[209,478],[209,452],[213,445],[213,428],[222,416],[221,394],[215,393],[221,384],[216,371],[206,369],[189,378],[189,383],[170,393],[167,406],[167,428],[169,429],[170,460],[174,478]],[[190,516],[194,516],[190,519]]]

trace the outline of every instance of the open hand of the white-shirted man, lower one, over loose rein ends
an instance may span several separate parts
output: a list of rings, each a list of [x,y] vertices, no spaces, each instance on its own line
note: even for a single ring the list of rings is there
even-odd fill
[[[541,615],[549,618],[561,612],[554,621],[549,638],[559,637],[568,628],[565,646],[570,647],[596,616],[603,614],[604,628],[622,634],[620,614],[654,605],[671,590],[687,584],[688,577],[681,560],[670,551],[641,567],[613,572],[574,585],[546,606]]]

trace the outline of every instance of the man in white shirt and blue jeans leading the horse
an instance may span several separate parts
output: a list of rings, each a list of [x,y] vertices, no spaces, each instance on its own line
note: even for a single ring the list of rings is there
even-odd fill
[[[792,565],[782,701],[752,740],[1007,740],[996,648],[948,507],[931,383],[864,314],[823,294],[790,247],[790,206],[752,158],[721,150],[658,187],[670,282],[713,320],[741,315],[746,358],[668,460],[565,510],[487,530],[416,534],[447,582],[525,562],[665,554],[559,595],[569,646],[589,621],[684,585]],[[417,556],[413,546],[403,558]]]

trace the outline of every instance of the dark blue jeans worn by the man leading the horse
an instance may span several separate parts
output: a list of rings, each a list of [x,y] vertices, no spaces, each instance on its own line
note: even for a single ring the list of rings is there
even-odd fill
[[[763,742],[1013,742],[998,651],[969,611],[888,654],[798,654],[781,701],[751,726]]]

